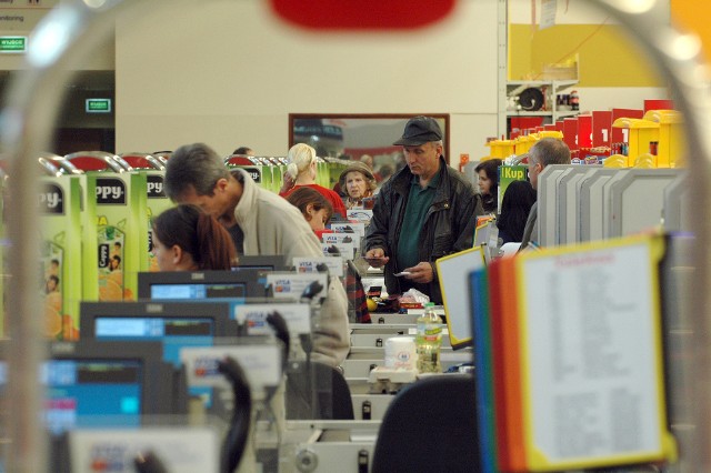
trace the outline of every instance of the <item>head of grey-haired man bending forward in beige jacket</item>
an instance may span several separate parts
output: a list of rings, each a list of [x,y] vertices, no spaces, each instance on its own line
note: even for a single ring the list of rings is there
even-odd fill
[[[204,143],[186,144],[166,164],[166,195],[173,202],[192,203],[214,218],[234,210],[230,175],[222,158]]]

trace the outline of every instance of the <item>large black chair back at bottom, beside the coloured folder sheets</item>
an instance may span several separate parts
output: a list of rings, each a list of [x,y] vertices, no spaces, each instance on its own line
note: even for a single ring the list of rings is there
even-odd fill
[[[372,473],[478,471],[473,375],[425,378],[395,395],[380,425]]]

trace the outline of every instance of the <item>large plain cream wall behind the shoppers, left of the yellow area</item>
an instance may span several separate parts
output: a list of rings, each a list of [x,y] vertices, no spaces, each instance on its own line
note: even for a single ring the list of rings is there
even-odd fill
[[[118,24],[116,70],[118,150],[204,141],[283,155],[290,112],[439,112],[457,163],[497,134],[497,4],[463,0],[411,32],[313,34],[268,2],[201,2]]]

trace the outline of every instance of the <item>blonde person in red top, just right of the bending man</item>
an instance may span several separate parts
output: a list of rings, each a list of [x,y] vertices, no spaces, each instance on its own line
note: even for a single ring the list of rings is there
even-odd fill
[[[289,150],[287,154],[289,165],[284,173],[284,183],[281,185],[279,195],[288,198],[291,192],[302,187],[309,187],[317,190],[333,207],[334,213],[346,217],[346,207],[340,195],[331,189],[324,188],[316,183],[316,150],[308,144],[297,143]]]

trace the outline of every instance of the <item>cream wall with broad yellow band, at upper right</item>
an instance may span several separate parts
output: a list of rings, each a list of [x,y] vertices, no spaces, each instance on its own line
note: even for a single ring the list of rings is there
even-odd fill
[[[669,0],[655,6],[669,23]],[[541,1],[509,1],[509,79],[543,79],[545,64],[577,58],[581,110],[642,108],[644,99],[667,99],[657,69],[622,27],[587,0],[559,0],[554,26],[539,27]]]

